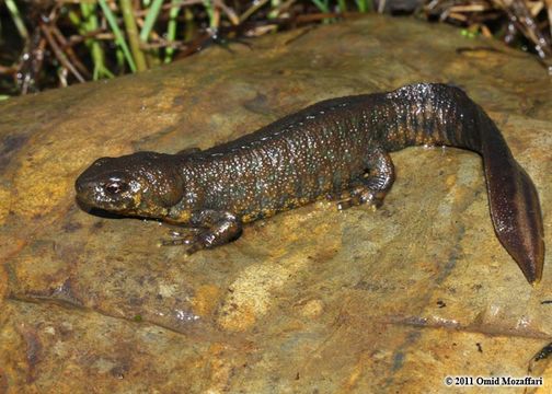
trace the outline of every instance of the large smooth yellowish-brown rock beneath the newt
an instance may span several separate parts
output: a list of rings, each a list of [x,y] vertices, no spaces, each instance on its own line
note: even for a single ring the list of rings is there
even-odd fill
[[[533,59],[376,16],[232,50],[0,104],[0,394],[438,393],[447,375],[529,369],[545,386],[528,392],[550,392],[548,358],[531,359],[552,340],[551,254],[532,288],[474,153],[393,153],[380,210],[317,202],[191,257],[157,246],[157,222],[77,207],[99,157],[208,148],[323,99],[434,81],[496,120],[552,247],[552,89]]]

